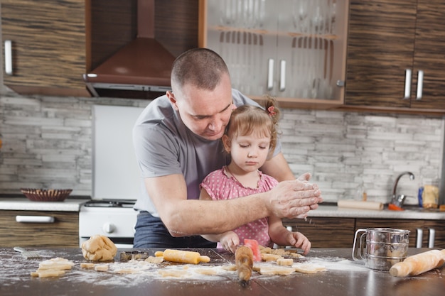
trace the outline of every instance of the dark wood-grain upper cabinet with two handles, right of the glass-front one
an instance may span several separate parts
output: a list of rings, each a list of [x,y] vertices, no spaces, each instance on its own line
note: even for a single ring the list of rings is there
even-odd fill
[[[345,105],[445,114],[445,3],[350,1]]]

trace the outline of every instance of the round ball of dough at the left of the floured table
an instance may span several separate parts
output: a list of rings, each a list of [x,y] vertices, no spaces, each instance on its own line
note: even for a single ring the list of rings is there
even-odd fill
[[[97,234],[82,243],[82,254],[90,261],[112,261],[116,253],[116,245],[107,236]]]

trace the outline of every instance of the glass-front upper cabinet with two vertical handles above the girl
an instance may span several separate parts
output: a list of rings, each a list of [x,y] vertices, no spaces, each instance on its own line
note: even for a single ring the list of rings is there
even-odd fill
[[[200,0],[200,46],[232,87],[284,106],[343,104],[347,26],[346,0]]]

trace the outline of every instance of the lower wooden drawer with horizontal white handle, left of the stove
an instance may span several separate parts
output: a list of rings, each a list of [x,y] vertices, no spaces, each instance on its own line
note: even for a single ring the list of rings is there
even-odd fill
[[[79,212],[2,210],[0,213],[2,247],[79,247]]]

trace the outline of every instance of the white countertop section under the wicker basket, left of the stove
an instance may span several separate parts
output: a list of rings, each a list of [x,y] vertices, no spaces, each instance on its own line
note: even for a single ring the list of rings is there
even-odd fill
[[[79,212],[80,206],[88,200],[90,199],[67,198],[63,202],[33,202],[26,197],[0,198],[0,209]]]

